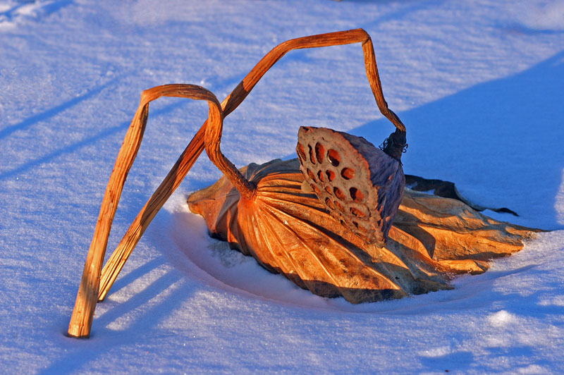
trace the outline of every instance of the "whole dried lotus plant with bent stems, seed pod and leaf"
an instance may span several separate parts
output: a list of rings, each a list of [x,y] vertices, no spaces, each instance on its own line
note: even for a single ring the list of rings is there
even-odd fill
[[[292,49],[357,42],[362,44],[376,104],[396,127],[383,149],[345,133],[301,128],[299,161],[271,161],[238,170],[226,159],[220,149],[223,118],[276,61]],[[123,184],[147,125],[149,103],[159,97],[206,100],[208,119],[102,269]],[[204,216],[214,235],[318,295],[343,295],[356,303],[449,288],[453,273],[482,272],[491,257],[522,247],[523,238],[531,233],[528,228],[493,221],[453,199],[404,190],[400,161],[404,147],[405,126],[388,109],[372,40],[360,29],[279,44],[221,104],[212,92],[195,85],[144,91],[104,193],[68,335],[90,336],[96,303],[107,295],[150,221],[204,148],[223,177],[191,195],[190,209]]]

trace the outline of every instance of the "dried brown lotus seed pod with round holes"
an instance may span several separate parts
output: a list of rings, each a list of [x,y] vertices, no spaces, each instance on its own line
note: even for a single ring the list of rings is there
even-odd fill
[[[384,246],[405,177],[400,161],[362,137],[301,127],[300,171],[327,211],[362,240]]]

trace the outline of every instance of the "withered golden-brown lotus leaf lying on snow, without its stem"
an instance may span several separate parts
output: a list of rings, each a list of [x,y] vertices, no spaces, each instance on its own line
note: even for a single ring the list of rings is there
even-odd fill
[[[317,159],[316,159],[317,160]],[[188,198],[209,232],[300,288],[352,303],[449,289],[458,273],[482,273],[520,250],[533,229],[494,221],[453,199],[405,189],[385,247],[341,225],[302,190],[298,159],[240,169],[257,186],[241,197],[222,177]]]

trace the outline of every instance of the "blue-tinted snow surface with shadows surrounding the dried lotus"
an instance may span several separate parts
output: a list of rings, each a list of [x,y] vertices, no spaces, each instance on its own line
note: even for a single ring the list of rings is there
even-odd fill
[[[408,129],[406,173],[552,230],[455,289],[349,305],[208,238],[195,164],[98,305],[63,335],[140,92],[223,99],[276,44],[363,27]],[[564,1],[0,0],[0,368],[7,374],[564,373]],[[151,104],[109,252],[207,116]],[[225,121],[237,166],[293,157],[300,125],[379,144],[360,45],[292,51]]]

